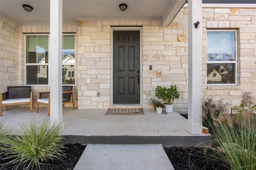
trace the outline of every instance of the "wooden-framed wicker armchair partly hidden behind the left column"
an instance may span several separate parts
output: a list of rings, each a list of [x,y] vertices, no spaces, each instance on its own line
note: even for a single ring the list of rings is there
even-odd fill
[[[74,93],[72,91],[73,86],[62,86],[62,107],[64,104],[72,103],[73,109],[75,109]],[[72,100],[70,100],[72,97]],[[47,116],[50,116],[50,92],[38,92],[36,113],[38,113],[39,104],[48,106]]]

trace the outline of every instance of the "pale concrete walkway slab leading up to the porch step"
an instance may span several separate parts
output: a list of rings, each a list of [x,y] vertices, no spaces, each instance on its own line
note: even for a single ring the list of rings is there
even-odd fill
[[[174,170],[162,145],[87,145],[74,170]]]

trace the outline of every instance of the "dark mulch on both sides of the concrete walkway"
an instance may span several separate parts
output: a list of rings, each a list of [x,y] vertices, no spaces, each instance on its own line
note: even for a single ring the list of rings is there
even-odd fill
[[[67,144],[65,147],[67,148],[65,150],[66,158],[49,161],[47,164],[40,166],[41,170],[72,170],[86,146],[76,143]],[[230,170],[230,167],[225,162],[209,159],[208,153],[212,153],[214,150],[195,148],[191,152],[192,149],[192,147],[164,147],[175,170]],[[0,164],[4,164],[6,161],[8,162],[8,160],[0,159]],[[0,165],[1,170],[11,170],[12,168],[12,165],[5,167]],[[22,169],[19,168],[19,170]],[[38,169],[34,168],[33,170]]]

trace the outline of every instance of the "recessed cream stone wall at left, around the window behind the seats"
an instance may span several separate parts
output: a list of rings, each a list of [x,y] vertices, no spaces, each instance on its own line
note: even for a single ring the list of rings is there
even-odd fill
[[[24,86],[24,34],[50,33],[50,25],[15,25],[1,17],[1,57],[0,57],[0,90],[7,91],[7,86]],[[63,33],[76,33],[77,25],[64,25]],[[48,91],[50,86],[32,86],[34,106],[36,106],[39,91]],[[74,98],[77,101],[76,86],[73,87]],[[75,102],[77,105],[77,102]],[[67,104],[70,105],[71,104]],[[23,107],[24,105],[20,105]]]

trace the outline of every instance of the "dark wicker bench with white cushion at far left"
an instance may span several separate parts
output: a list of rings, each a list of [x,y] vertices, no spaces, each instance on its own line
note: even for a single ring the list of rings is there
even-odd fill
[[[30,112],[33,109],[33,92],[31,86],[8,86],[7,92],[0,93],[0,117],[2,116],[2,107],[19,105],[19,104],[30,104]]]

